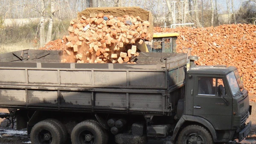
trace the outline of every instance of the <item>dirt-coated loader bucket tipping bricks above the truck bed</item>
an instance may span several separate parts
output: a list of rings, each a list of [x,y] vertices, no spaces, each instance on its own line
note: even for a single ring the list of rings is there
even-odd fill
[[[86,8],[82,12],[78,13],[78,18],[81,16],[90,17],[90,14],[103,13],[105,15],[113,15],[114,17],[123,17],[124,15],[133,15],[134,17],[139,16],[141,20],[148,21],[150,23],[148,27],[148,32],[150,37],[149,41],[153,38],[154,26],[153,17],[151,12],[141,9],[140,7],[99,7],[99,8]]]

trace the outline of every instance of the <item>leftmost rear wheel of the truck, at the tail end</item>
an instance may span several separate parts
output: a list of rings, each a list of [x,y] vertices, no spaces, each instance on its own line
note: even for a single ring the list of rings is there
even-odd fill
[[[40,121],[30,133],[32,144],[63,144],[61,129],[52,121]]]

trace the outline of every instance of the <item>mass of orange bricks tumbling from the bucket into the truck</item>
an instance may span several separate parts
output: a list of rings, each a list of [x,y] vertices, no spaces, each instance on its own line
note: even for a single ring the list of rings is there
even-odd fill
[[[70,63],[134,63],[139,55],[137,43],[150,37],[148,21],[124,15],[90,14],[80,20],[71,20],[62,62]]]

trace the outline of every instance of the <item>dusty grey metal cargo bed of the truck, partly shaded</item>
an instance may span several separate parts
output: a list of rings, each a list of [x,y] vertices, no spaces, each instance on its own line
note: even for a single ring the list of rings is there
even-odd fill
[[[59,52],[0,55],[0,107],[163,115],[169,93],[185,84],[186,54],[140,53],[137,64],[49,63],[60,61]]]

